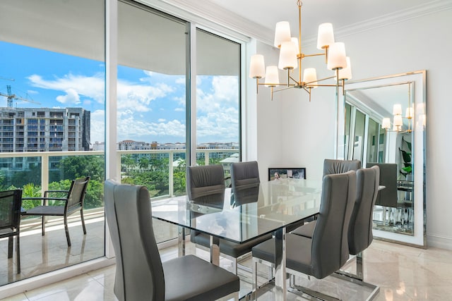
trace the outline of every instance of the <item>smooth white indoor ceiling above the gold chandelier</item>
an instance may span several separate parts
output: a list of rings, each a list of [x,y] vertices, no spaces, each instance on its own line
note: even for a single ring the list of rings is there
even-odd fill
[[[188,0],[194,4],[197,0]],[[352,30],[366,23],[386,22],[400,16],[425,11],[444,0],[305,0],[302,1],[302,34],[314,38],[321,23],[333,23],[335,32]],[[275,23],[290,22],[292,36],[298,33],[298,8],[295,0],[204,0],[273,32]]]

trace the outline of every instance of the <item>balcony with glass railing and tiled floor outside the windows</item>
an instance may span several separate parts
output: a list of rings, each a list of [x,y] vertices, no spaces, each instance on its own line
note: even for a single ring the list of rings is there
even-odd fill
[[[222,154],[218,154],[218,153]],[[218,157],[237,153],[237,149],[203,149],[197,153],[198,164],[218,163]],[[152,199],[185,194],[184,150],[117,151],[117,174],[124,183],[146,185]],[[215,158],[212,158],[214,156]],[[84,216],[87,234],[83,235],[79,214],[69,217],[72,246],[67,247],[64,223],[61,218],[47,218],[46,234],[41,235],[41,219],[23,219],[20,226],[21,272],[16,274],[16,254],[7,259],[8,240],[0,240],[0,285],[30,278],[57,269],[104,256],[105,228],[103,208],[104,152],[16,152],[0,153],[0,164],[8,167],[3,184],[22,188],[24,195],[42,195],[44,190],[64,188],[71,178],[66,176],[73,162],[93,161],[100,168],[89,166],[92,180],[85,197]],[[88,159],[88,160],[87,160]],[[65,161],[66,160],[66,161]],[[27,170],[13,171],[13,162],[20,162]],[[16,165],[17,166],[17,165]],[[61,167],[62,166],[62,167]],[[64,168],[68,170],[64,170]],[[86,167],[86,166],[85,166]],[[225,168],[227,170],[227,168]],[[137,175],[153,173],[155,178]],[[5,186],[5,185],[4,185]],[[67,188],[66,188],[67,189]],[[30,195],[28,195],[30,196]],[[36,195],[35,195],[36,196]],[[30,204],[23,203],[23,207]],[[177,228],[162,221],[153,221],[158,242],[177,237]]]

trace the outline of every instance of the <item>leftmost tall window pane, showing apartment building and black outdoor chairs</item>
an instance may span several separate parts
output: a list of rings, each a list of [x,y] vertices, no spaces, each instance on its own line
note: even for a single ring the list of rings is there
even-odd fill
[[[0,4],[0,189],[25,197],[67,190],[90,176],[87,234],[69,218],[23,217],[21,272],[0,240],[0,285],[104,256],[105,2],[17,0]],[[97,152],[93,150],[97,147]],[[40,204],[24,201],[24,210]],[[52,203],[54,204],[54,203]],[[57,203],[55,203],[57,204]]]

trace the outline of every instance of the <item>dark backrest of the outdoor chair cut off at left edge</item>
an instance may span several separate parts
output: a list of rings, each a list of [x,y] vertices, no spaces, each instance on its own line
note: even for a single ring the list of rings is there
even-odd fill
[[[0,191],[0,229],[19,228],[22,190]]]

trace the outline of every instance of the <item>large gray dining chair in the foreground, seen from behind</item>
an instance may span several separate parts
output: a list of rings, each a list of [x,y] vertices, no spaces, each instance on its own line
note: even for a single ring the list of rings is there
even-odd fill
[[[120,301],[238,300],[239,278],[194,255],[162,262],[145,186],[105,181],[105,216],[116,254]]]

